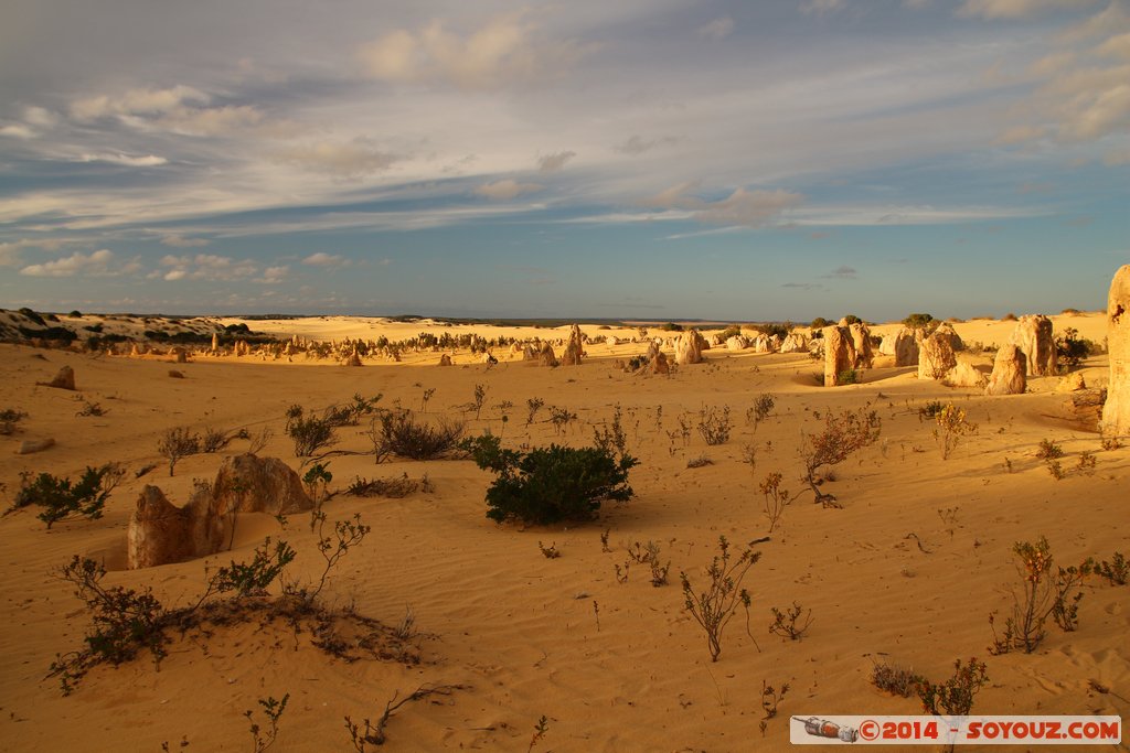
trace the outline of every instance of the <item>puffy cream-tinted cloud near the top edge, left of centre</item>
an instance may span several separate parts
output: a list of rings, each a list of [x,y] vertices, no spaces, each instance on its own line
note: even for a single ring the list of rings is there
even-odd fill
[[[357,55],[365,71],[383,81],[496,89],[558,76],[585,52],[575,42],[546,38],[528,16],[497,16],[463,35],[433,20],[416,32],[390,32],[362,46]]]

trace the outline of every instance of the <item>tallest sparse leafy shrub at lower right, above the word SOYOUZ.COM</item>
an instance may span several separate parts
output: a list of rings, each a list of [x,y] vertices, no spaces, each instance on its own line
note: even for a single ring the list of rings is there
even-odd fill
[[[1017,542],[1012,552],[1019,560],[1017,569],[1023,577],[1019,592],[1012,593],[1012,614],[1005,620],[1005,628],[997,634],[996,615],[989,616],[993,631],[992,654],[1007,654],[1014,649],[1031,654],[1048,634],[1044,625],[1049,618],[1064,632],[1079,625],[1079,585],[1094,571],[1094,562],[1084,560],[1078,566],[1053,570],[1051,544],[1041,536],[1033,544]]]

